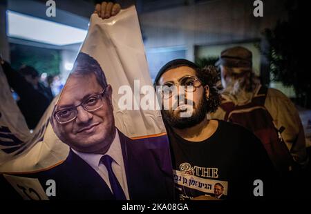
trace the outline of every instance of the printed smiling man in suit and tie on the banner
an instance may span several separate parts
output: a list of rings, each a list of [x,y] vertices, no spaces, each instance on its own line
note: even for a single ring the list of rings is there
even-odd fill
[[[79,52],[55,105],[51,124],[70,146],[62,164],[26,175],[46,186],[49,199],[151,200],[173,198],[167,135],[130,139],[115,127],[112,86],[100,64]]]

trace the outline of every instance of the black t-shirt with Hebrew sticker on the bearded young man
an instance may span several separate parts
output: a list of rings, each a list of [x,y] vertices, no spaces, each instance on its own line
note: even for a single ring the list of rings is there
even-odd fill
[[[216,132],[202,142],[182,139],[170,128],[168,132],[180,200],[200,195],[262,198],[255,195],[267,197],[273,192],[276,177],[272,162],[259,139],[242,126],[218,121]],[[255,182],[257,179],[263,183]]]

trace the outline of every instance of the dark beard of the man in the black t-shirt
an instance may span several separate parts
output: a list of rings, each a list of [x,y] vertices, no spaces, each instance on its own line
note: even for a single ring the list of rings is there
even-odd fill
[[[187,103],[187,100],[185,100],[185,103]],[[180,111],[170,109],[162,111],[164,120],[169,126],[178,129],[190,128],[200,124],[200,122],[205,119],[207,113],[209,112],[209,109],[207,108],[208,101],[205,99],[205,97],[202,97],[198,106],[196,106],[194,102],[193,105],[194,112],[191,117],[180,117]]]

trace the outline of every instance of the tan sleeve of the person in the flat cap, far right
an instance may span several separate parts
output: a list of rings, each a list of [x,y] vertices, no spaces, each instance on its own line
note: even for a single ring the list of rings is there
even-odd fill
[[[271,88],[267,93],[265,108],[272,116],[276,128],[284,128],[281,135],[294,160],[301,166],[306,166],[308,156],[305,135],[298,110],[292,101],[279,90]]]

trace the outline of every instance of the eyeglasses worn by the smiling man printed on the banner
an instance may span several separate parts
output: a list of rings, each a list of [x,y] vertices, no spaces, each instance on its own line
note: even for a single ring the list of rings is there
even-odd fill
[[[103,106],[102,97],[104,96],[105,90],[106,88],[102,91],[102,93],[88,97],[88,99],[86,99],[77,106],[57,110],[54,113],[57,122],[59,124],[66,124],[70,121],[73,121],[75,118],[77,118],[77,107],[79,106],[82,106],[82,108],[87,112],[93,112],[95,110],[102,108]]]

